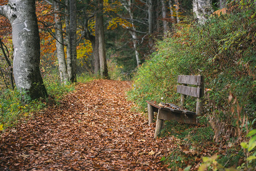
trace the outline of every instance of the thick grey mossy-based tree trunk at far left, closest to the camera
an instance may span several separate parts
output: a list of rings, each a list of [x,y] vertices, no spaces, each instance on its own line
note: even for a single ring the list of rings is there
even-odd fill
[[[10,0],[0,7],[0,14],[10,20],[13,28],[14,79],[23,100],[46,97],[40,74],[40,38],[34,0]]]

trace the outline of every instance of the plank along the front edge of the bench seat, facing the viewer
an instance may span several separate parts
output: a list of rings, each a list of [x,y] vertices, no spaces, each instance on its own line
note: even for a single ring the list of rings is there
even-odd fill
[[[186,124],[197,124],[197,115],[186,115],[185,113],[174,113],[171,111],[159,110],[157,119],[175,120]]]

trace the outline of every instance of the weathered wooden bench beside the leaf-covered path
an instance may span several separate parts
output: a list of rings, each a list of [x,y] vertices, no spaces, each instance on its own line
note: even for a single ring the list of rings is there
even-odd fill
[[[185,104],[186,96],[197,98],[196,112],[182,109],[171,103],[156,103],[156,101],[147,101],[148,103],[148,124],[153,122],[154,112],[157,112],[157,121],[155,129],[155,138],[159,135],[164,120],[176,120],[181,123],[197,124],[197,116],[201,115],[201,97],[204,96],[204,76],[201,75],[178,75],[177,92],[181,93],[181,106]],[[190,87],[195,85],[197,87]]]

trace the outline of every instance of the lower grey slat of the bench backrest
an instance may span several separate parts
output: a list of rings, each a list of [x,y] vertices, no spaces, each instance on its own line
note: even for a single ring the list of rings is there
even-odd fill
[[[178,85],[177,92],[182,93],[183,95],[188,95],[193,97],[202,96],[202,88],[197,88],[197,87],[187,87],[187,86]]]

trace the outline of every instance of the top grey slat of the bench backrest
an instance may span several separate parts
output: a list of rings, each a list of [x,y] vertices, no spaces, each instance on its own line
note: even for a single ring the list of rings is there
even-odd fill
[[[201,75],[178,75],[178,83],[201,86],[204,76]]]

